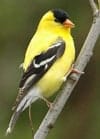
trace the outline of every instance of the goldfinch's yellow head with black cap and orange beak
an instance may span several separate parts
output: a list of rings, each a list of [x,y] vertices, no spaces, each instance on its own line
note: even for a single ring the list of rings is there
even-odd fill
[[[52,9],[48,11],[42,17],[39,25],[45,29],[48,27],[70,29],[75,26],[74,23],[69,19],[68,13],[61,9]]]

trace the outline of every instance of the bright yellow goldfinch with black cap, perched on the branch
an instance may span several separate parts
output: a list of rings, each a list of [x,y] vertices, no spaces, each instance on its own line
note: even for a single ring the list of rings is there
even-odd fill
[[[52,96],[67,77],[75,58],[71,36],[74,24],[61,9],[48,11],[38,25],[27,48],[23,62],[23,76],[7,133],[31,103]]]

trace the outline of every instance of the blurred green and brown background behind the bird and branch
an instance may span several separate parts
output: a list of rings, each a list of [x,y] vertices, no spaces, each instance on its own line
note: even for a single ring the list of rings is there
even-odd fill
[[[28,110],[22,113],[13,133],[5,137],[12,114],[11,107],[18,92],[27,45],[40,17],[49,9],[62,8],[76,24],[76,52],[89,32],[92,12],[88,0],[0,0],[0,139],[31,139]],[[85,74],[73,91],[47,139],[100,139],[100,40]],[[38,101],[32,106],[34,130],[48,108]]]

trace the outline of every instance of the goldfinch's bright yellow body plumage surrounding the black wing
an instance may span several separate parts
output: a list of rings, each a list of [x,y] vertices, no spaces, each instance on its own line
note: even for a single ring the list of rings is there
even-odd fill
[[[63,38],[66,44],[64,55],[58,59],[48,72],[36,83],[42,90],[44,97],[55,93],[63,83],[63,77],[70,70],[75,58],[75,48],[70,28],[54,22],[53,13],[50,11],[40,21],[36,34],[33,36],[25,55],[23,68],[27,70],[31,60],[41,52],[44,52],[58,37]]]

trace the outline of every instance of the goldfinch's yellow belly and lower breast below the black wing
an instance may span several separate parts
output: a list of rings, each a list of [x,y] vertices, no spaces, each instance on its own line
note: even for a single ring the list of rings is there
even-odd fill
[[[62,83],[63,77],[68,73],[74,61],[75,49],[73,43],[66,47],[64,55],[53,64],[48,72],[36,84],[44,97],[52,96],[57,92]]]

